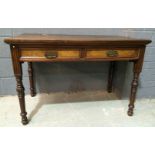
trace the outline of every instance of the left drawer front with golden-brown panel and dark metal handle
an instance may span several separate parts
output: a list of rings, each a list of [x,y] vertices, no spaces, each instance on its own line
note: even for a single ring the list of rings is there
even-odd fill
[[[39,60],[54,60],[54,59],[78,59],[80,57],[79,50],[50,50],[50,49],[22,49],[21,59],[39,59]]]

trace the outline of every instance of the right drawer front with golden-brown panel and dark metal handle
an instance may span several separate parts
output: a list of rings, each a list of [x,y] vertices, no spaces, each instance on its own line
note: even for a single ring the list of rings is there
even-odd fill
[[[87,51],[87,58],[137,58],[139,56],[138,50],[89,50]]]

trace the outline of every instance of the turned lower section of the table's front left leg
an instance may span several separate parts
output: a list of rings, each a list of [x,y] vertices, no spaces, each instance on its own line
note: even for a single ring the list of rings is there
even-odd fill
[[[26,117],[27,112],[25,110],[25,93],[24,93],[24,87],[22,83],[22,75],[15,75],[16,81],[17,81],[17,93],[19,98],[19,104],[21,109],[21,117],[22,117],[22,124],[26,125],[28,124],[28,119]]]

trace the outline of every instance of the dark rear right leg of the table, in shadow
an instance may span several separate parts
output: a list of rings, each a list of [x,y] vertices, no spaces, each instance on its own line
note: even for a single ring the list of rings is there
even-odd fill
[[[107,91],[109,93],[112,92],[112,87],[113,87],[113,76],[114,76],[114,70],[115,70],[115,62],[112,61],[110,62],[110,67],[109,67],[109,75],[108,75],[108,86],[107,86]]]

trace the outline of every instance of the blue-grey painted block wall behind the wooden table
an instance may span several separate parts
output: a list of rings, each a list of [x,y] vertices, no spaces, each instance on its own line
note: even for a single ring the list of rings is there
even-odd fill
[[[152,39],[147,47],[143,72],[140,77],[138,97],[155,96],[155,29],[0,29],[0,95],[16,94],[9,46],[3,43],[5,37],[21,33],[121,35]],[[35,63],[35,77],[38,92],[76,92],[81,90],[104,90],[106,88],[107,62]],[[24,85],[29,93],[27,64],[24,64]],[[118,76],[119,75],[119,76]],[[132,80],[132,64],[117,63],[115,91],[127,97]]]

